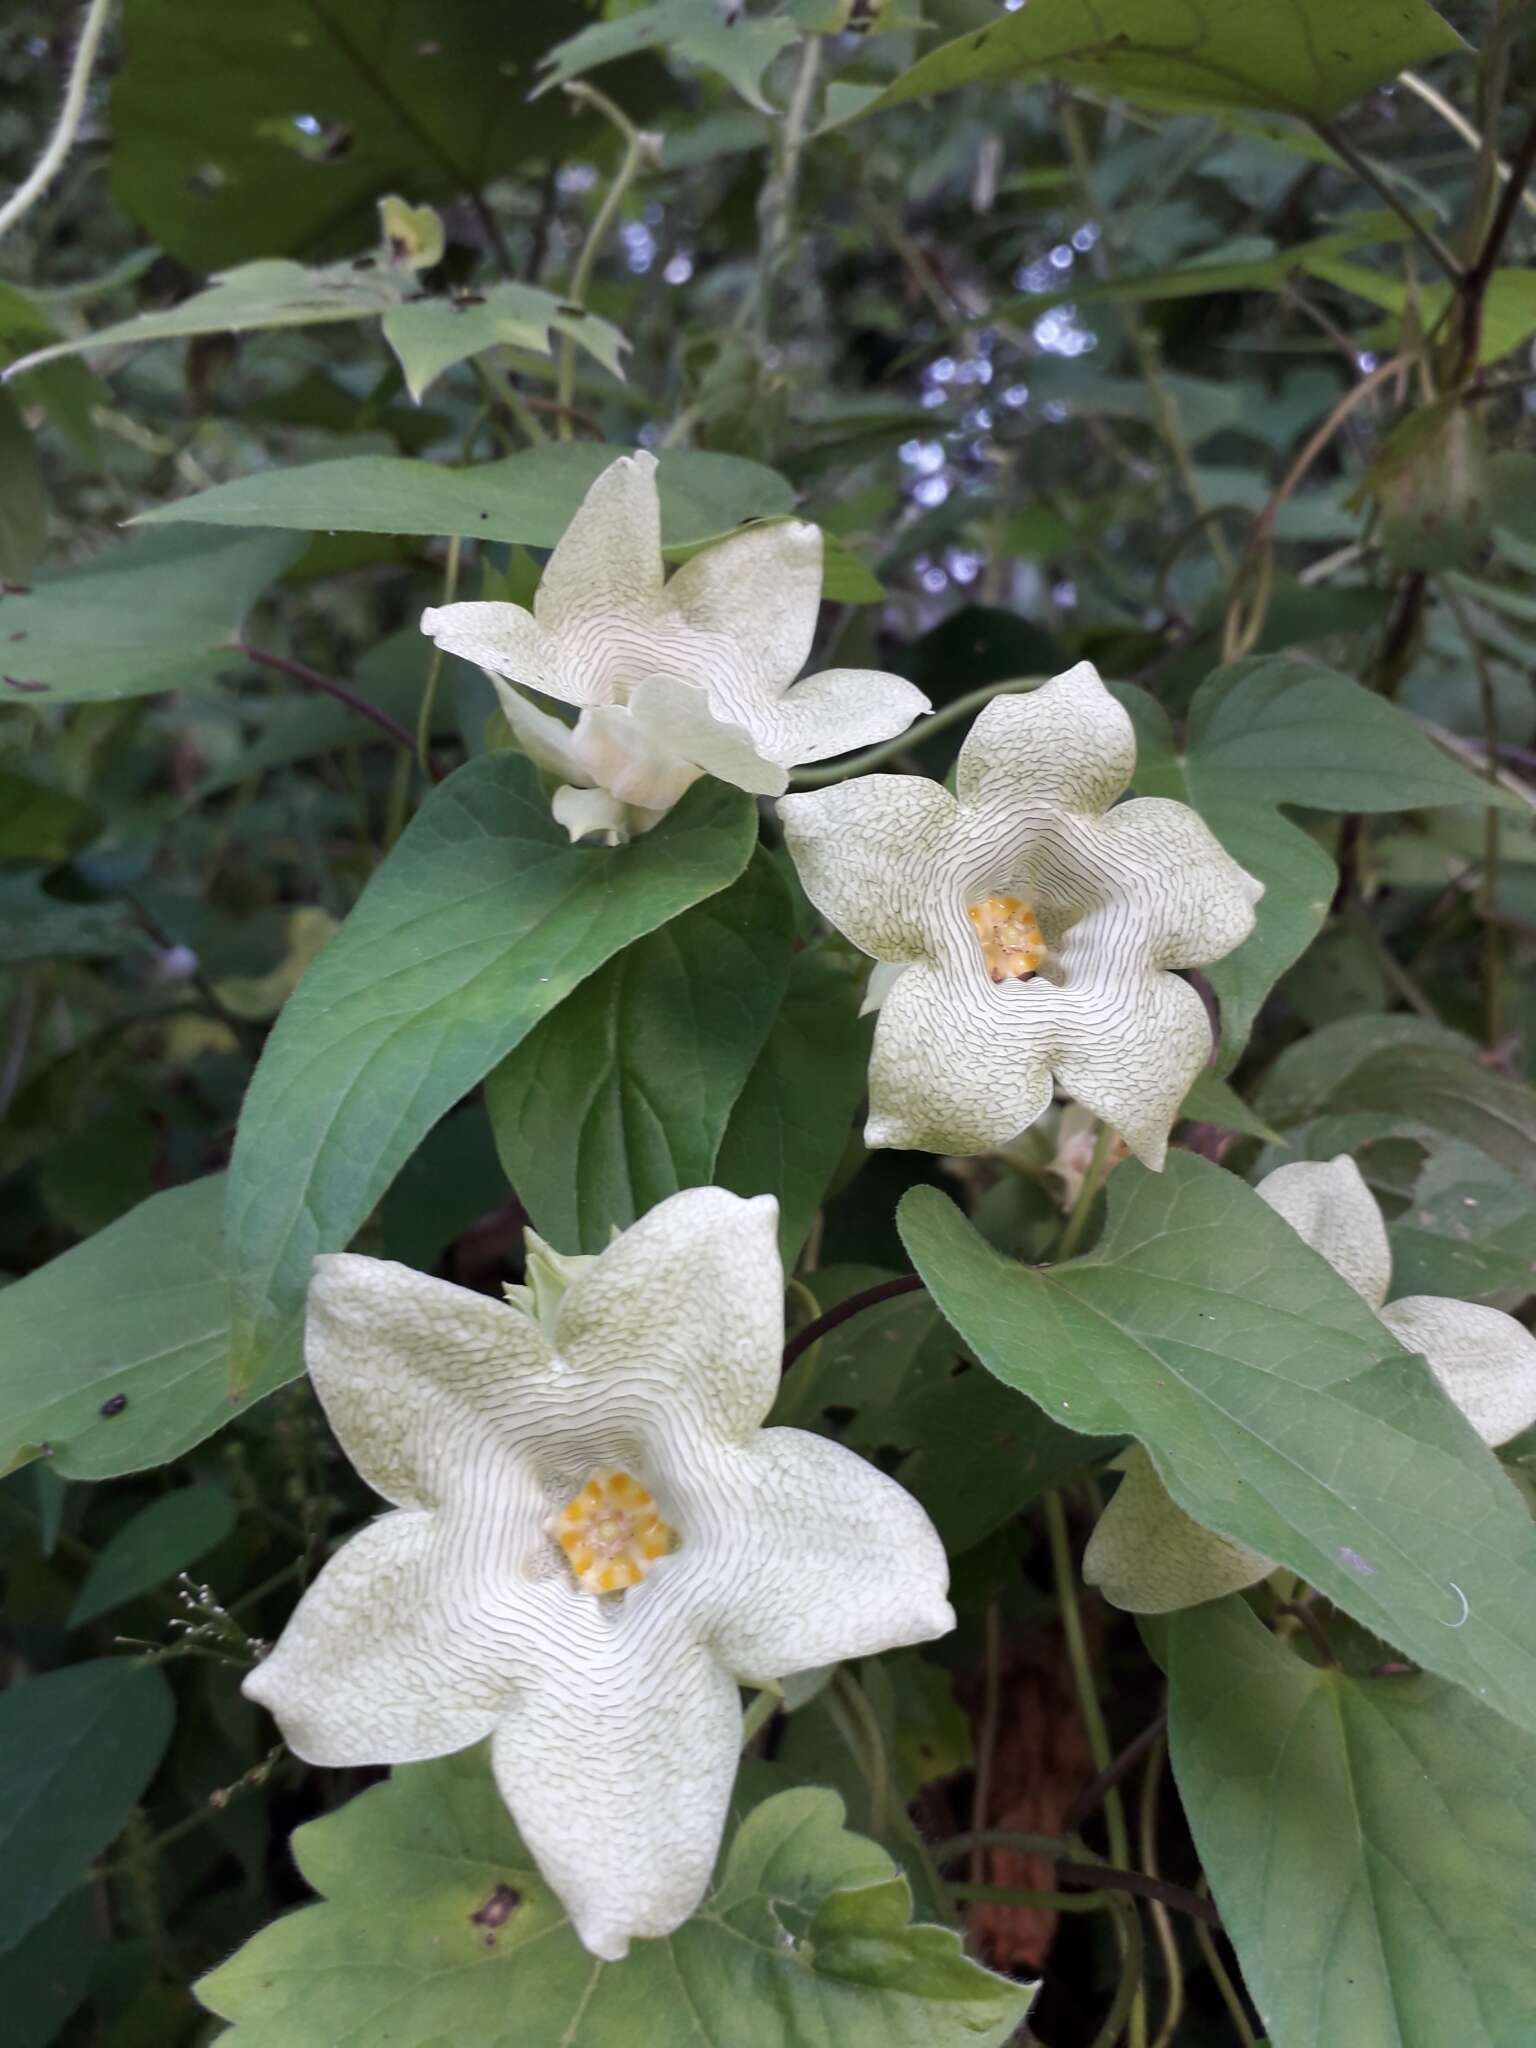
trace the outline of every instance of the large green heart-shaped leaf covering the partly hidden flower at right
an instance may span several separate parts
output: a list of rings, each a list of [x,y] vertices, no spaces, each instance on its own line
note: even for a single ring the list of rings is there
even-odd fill
[[[1243,1182],[1126,1163],[1087,1260],[1022,1268],[934,1188],[897,1223],[977,1358],[1053,1419],[1143,1442],[1206,1528],[1536,1729],[1536,1530],[1421,1360]]]

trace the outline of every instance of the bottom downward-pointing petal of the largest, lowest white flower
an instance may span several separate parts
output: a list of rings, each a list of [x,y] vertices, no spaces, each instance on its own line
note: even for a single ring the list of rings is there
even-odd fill
[[[590,1620],[547,1642],[492,1741],[518,1833],[604,1962],[702,1901],[741,1745],[735,1681],[688,1640],[686,1612],[625,1602],[614,1624],[588,1602]]]

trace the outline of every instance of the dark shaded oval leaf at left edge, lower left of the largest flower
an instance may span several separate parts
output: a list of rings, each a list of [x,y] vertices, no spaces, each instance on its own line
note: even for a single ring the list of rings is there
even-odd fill
[[[160,1671],[127,1657],[0,1694],[0,1948],[86,1876],[154,1778],[174,1718]]]

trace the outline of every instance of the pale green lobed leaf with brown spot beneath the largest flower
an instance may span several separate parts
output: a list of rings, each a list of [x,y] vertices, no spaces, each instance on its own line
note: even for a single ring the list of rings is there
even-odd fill
[[[737,1794],[739,1796],[739,1794]],[[412,1763],[293,1837],[324,1905],[205,1976],[233,2048],[1001,2048],[1030,1989],[913,1927],[891,1858],[834,1792],[799,1788],[735,1829],[711,1898],[625,1962],[580,1946],[502,1804],[483,1749]]]

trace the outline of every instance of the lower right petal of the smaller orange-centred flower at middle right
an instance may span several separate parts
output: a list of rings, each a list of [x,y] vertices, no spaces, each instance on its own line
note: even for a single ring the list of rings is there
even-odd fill
[[[1210,1018],[1188,981],[1116,958],[1116,905],[1092,911],[1061,948],[1055,1071],[1157,1174],[1180,1104],[1210,1059]]]

